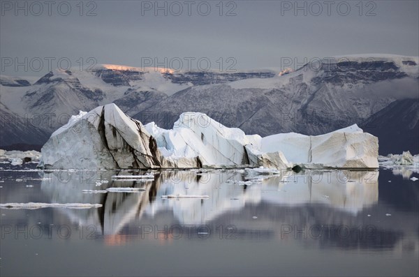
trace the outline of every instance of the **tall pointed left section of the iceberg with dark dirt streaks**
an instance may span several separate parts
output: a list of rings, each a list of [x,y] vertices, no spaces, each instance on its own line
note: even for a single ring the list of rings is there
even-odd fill
[[[156,143],[140,121],[115,104],[96,107],[52,133],[40,165],[54,169],[162,167]]]

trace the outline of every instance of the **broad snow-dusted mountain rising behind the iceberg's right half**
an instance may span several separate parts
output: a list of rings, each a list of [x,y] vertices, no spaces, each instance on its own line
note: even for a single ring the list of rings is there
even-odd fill
[[[385,113],[383,109],[396,100],[411,99],[406,101],[409,108],[404,108],[411,110],[411,133],[418,141],[418,109],[415,108],[418,68],[418,57],[369,55],[325,59],[270,79],[190,87],[133,117],[171,128],[179,114],[188,110],[203,112],[249,134],[319,135],[353,123],[363,126],[372,120],[369,118],[373,114]],[[381,139],[379,134],[384,129],[388,126],[382,122],[368,131]],[[404,126],[393,124],[388,132],[399,133],[394,144],[411,147],[412,144],[404,144],[402,130]],[[415,149],[409,150],[418,153],[419,147],[416,144]],[[380,149],[381,154],[397,151],[391,144]]]

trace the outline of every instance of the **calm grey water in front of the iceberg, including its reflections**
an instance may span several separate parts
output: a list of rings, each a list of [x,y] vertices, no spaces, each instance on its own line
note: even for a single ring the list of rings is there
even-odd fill
[[[145,172],[0,167],[2,204],[103,205],[0,209],[1,276],[419,274],[419,182],[390,170],[281,172],[235,184],[249,175],[163,171],[115,181]],[[82,191],[110,187],[143,190]],[[161,197],[170,194],[209,197]]]

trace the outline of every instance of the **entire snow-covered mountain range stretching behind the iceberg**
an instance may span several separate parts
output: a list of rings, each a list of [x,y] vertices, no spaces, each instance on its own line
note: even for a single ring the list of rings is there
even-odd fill
[[[20,117],[41,114],[43,120],[36,128],[46,133],[79,110],[113,102],[128,116],[143,123],[154,121],[162,128],[172,128],[179,114],[188,111],[262,136],[319,135],[357,123],[383,141],[380,154],[403,150],[417,154],[419,145],[412,142],[419,140],[418,63],[418,57],[367,54],[317,60],[281,74],[174,73],[101,65],[84,71],[56,70],[27,87],[18,86],[27,84],[22,78],[2,76],[0,102]],[[409,100],[404,101],[402,113],[391,108],[404,99]],[[399,116],[411,116],[409,128],[397,124]],[[394,122],[387,125],[387,118]],[[368,128],[372,121],[381,123]],[[397,133],[397,142],[384,133]]]

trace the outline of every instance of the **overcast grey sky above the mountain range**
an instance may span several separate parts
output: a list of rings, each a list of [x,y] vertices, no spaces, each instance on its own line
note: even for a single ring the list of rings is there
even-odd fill
[[[155,1],[59,3],[1,1],[1,75],[43,75],[48,59],[53,68],[59,59],[61,68],[156,60],[179,68],[182,60],[183,69],[210,61],[241,70],[281,68],[288,58],[293,68],[304,57],[419,55],[418,1],[159,1],[161,10]]]

